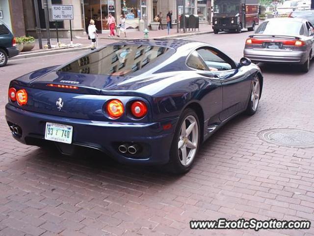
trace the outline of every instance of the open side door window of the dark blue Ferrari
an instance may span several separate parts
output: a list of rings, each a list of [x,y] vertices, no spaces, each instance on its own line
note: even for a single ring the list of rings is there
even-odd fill
[[[201,48],[197,50],[204,59],[207,67],[211,71],[231,70],[232,65],[229,58],[211,48]]]

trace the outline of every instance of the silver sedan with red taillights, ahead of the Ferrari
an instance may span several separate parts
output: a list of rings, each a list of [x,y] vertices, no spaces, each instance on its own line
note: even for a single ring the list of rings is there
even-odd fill
[[[254,62],[298,64],[308,72],[314,57],[314,29],[302,18],[276,18],[263,22],[246,39],[244,57]]]

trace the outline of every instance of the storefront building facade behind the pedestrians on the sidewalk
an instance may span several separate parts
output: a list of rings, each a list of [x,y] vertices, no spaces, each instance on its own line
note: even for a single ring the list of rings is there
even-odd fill
[[[36,28],[35,7],[39,9],[40,28]],[[172,11],[172,21],[177,19],[177,2],[179,15],[183,14],[183,0],[48,0],[49,4],[73,5],[74,20],[71,21],[74,36],[86,35],[90,19],[95,21],[98,32],[108,31],[107,19],[112,14],[120,22],[121,14],[126,16],[129,29],[137,29],[140,22],[146,26],[156,15],[162,14],[162,23],[166,24],[166,15]],[[185,0],[185,14],[199,16],[200,23],[208,23],[211,18],[211,0]],[[51,14],[51,13],[50,13]],[[16,36],[32,35],[37,37],[37,30],[41,30],[46,37],[46,22],[43,0],[0,0],[0,20],[12,29]],[[141,21],[143,20],[143,21]],[[56,28],[60,38],[70,37],[70,20],[49,22],[51,37],[56,37]]]

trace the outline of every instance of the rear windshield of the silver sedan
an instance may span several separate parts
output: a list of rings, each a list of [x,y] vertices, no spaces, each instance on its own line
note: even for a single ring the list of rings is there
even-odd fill
[[[303,35],[302,22],[293,21],[266,21],[263,22],[255,33],[271,35]]]

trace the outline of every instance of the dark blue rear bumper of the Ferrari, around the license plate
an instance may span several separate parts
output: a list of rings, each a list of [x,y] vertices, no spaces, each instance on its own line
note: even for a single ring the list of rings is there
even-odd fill
[[[99,149],[121,163],[165,164],[169,161],[169,152],[174,129],[178,118],[164,122],[126,123],[93,121],[86,119],[64,118],[34,113],[14,107],[5,106],[5,118],[8,123],[18,125],[22,135],[13,137],[26,145],[33,145],[34,139],[45,141],[46,122],[73,126],[71,147],[84,146]],[[172,128],[163,130],[163,124],[172,124]],[[59,148],[66,145],[54,142]],[[143,145],[145,152],[139,155],[123,154],[118,146],[124,143]]]

